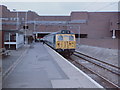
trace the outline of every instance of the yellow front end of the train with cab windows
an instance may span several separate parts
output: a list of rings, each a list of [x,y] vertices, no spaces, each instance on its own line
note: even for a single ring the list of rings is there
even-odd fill
[[[76,48],[75,34],[61,33],[56,34],[56,50],[64,56],[70,56],[74,53]]]

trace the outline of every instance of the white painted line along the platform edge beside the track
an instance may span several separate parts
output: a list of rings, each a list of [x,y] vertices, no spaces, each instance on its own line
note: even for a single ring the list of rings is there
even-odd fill
[[[47,45],[46,45],[47,46]],[[47,46],[48,48],[50,48],[49,46]],[[50,48],[51,49],[51,48]],[[66,60],[63,56],[61,56],[59,53],[57,53],[56,51],[54,51],[53,49],[51,49],[53,52],[55,52],[57,55],[59,55],[63,60],[65,60],[67,63],[69,63],[72,67],[74,67],[76,70],[78,70],[80,73],[82,73],[86,78],[88,78],[91,82],[93,82],[97,87],[99,88],[104,88],[102,87],[100,84],[98,84],[96,81],[94,81],[91,77],[89,77],[87,74],[85,74],[83,71],[81,71],[80,69],[78,69],[75,65],[73,65],[71,62],[69,62],[68,60]]]

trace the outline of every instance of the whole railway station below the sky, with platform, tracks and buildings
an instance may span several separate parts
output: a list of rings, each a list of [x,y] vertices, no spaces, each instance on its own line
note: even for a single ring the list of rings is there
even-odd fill
[[[42,16],[0,5],[0,87],[120,88],[119,12]]]

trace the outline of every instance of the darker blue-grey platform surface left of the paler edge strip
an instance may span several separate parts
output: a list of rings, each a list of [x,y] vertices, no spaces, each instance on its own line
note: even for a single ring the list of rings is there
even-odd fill
[[[37,43],[4,80],[3,88],[51,88],[51,79],[65,78],[45,47]]]

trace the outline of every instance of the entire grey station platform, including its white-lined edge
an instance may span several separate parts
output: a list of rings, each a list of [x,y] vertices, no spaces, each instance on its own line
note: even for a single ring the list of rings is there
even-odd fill
[[[8,73],[3,88],[103,88],[45,44],[35,43]]]

